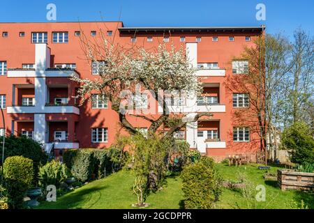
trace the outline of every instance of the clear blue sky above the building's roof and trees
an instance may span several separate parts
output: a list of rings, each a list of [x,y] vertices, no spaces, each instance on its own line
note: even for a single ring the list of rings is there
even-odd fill
[[[268,33],[292,36],[301,27],[313,35],[314,1],[284,0],[35,0],[2,1],[0,22],[48,22],[46,6],[57,6],[57,22],[117,21],[125,26],[260,26]],[[257,21],[255,6],[264,3],[266,20]],[[102,19],[103,17],[103,19]]]

